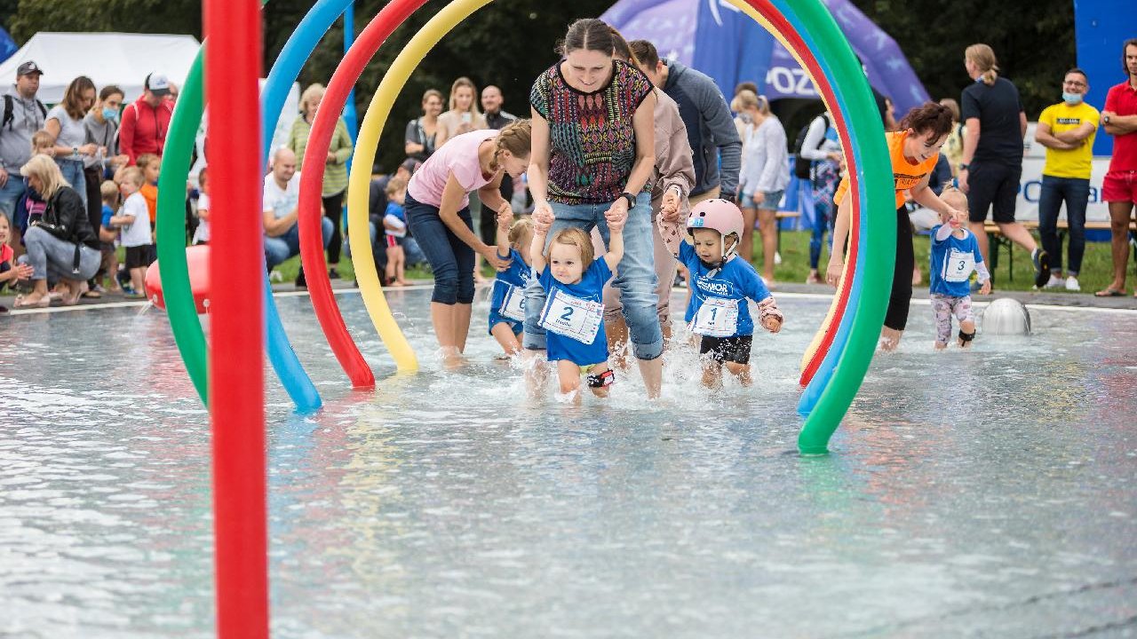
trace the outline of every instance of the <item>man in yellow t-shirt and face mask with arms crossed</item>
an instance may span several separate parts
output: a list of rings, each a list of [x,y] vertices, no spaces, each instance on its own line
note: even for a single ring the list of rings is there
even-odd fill
[[[1080,68],[1067,72],[1062,81],[1062,101],[1043,109],[1035,140],[1046,147],[1043,189],[1038,198],[1038,234],[1051,256],[1047,289],[1065,287],[1081,290],[1078,271],[1086,250],[1086,205],[1089,202],[1089,172],[1094,159],[1094,135],[1099,114],[1082,101],[1089,78]],[[1062,239],[1057,233],[1059,210],[1067,205],[1070,226],[1068,279],[1062,279]]]

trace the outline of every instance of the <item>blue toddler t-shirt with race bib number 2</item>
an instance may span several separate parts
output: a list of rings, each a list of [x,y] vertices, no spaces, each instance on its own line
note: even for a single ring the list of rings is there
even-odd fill
[[[573,308],[565,305],[546,302],[541,310],[542,326],[546,330],[546,348],[548,349],[549,362],[567,359],[578,366],[589,366],[608,360],[608,338],[604,332],[603,297],[604,284],[612,279],[612,269],[603,257],[592,262],[588,271],[581,275],[580,282],[575,284],[562,284],[553,276],[551,268],[546,265],[541,272],[540,282],[548,300],[554,300],[554,296],[567,296],[566,301],[583,300],[600,305],[599,327],[591,342],[575,340],[567,335],[557,334],[549,330],[548,323],[565,323],[566,325],[580,325],[582,320],[591,320],[595,325],[596,310],[588,312],[580,306]]]

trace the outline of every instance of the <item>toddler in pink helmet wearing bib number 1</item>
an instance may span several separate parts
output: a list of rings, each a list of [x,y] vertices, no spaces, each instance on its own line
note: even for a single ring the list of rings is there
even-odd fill
[[[699,354],[707,355],[704,385],[721,387],[724,366],[749,385],[754,321],[747,300],[757,302],[762,327],[771,333],[781,331],[783,316],[758,272],[736,255],[742,211],[723,199],[695,205],[687,218],[687,241],[680,238],[678,223],[659,215],[658,225],[664,243],[691,274],[684,320],[700,335]]]

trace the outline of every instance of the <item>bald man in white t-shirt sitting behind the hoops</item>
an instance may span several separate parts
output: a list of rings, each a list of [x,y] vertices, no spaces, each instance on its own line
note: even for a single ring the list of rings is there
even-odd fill
[[[296,153],[281,147],[273,155],[273,169],[265,175],[262,224],[265,227],[265,265],[272,271],[285,259],[300,255],[300,227],[297,224],[300,202],[300,173],[296,169]],[[321,217],[324,248],[332,239],[332,221]],[[304,268],[296,277],[298,289],[307,289]]]

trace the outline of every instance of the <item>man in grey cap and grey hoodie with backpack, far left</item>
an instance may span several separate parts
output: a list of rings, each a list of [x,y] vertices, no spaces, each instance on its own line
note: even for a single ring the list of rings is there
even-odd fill
[[[16,84],[3,96],[0,121],[0,210],[13,221],[16,205],[24,194],[19,167],[32,157],[32,134],[43,128],[47,107],[35,98],[43,70],[33,60],[16,69]],[[19,231],[11,225],[10,243],[19,247]]]

